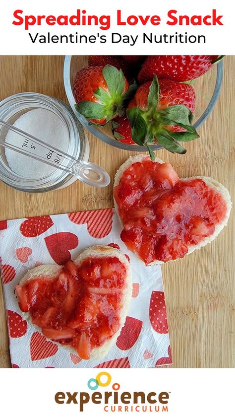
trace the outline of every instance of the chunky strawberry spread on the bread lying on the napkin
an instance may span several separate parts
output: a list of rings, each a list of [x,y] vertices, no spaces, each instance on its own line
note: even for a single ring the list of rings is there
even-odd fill
[[[78,267],[68,261],[59,276],[17,285],[19,307],[45,337],[89,359],[120,326],[126,268],[117,257],[90,257]]]

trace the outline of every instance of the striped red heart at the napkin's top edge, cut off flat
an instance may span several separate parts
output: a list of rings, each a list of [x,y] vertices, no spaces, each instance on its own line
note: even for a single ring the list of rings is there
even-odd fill
[[[114,209],[99,209],[68,213],[68,218],[77,225],[86,223],[93,238],[104,238],[112,229],[113,214]]]

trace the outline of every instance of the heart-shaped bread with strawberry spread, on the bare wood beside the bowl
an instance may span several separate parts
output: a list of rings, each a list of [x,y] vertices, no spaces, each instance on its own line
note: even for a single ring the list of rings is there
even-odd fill
[[[114,200],[121,239],[146,265],[184,257],[217,237],[232,208],[210,177],[179,179],[169,163],[130,157],[117,171]]]

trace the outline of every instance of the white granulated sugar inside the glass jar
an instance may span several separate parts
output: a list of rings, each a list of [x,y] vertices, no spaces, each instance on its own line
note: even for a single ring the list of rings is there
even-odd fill
[[[18,129],[33,135],[35,138],[41,139],[47,142],[51,146],[59,148],[61,151],[67,152],[69,135],[63,124],[57,115],[46,109],[33,109],[22,116],[20,116],[13,124]],[[11,144],[17,144],[22,147],[24,138],[12,131],[8,131],[5,141]],[[30,147],[30,142],[28,143]],[[40,146],[36,145],[37,154],[42,154],[46,150],[42,150]],[[40,149],[41,148],[41,149]],[[24,148],[25,149],[25,148]],[[27,177],[28,179],[40,179],[47,177],[55,171],[55,167],[38,161],[27,155],[19,154],[12,149],[5,148],[5,156],[9,167],[16,174]]]

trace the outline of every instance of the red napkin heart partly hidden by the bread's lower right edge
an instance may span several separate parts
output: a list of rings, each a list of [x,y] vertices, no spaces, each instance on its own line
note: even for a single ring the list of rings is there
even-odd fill
[[[139,338],[143,322],[139,319],[127,316],[125,325],[121,330],[119,337],[117,338],[117,347],[120,350],[129,350],[134,346]]]

